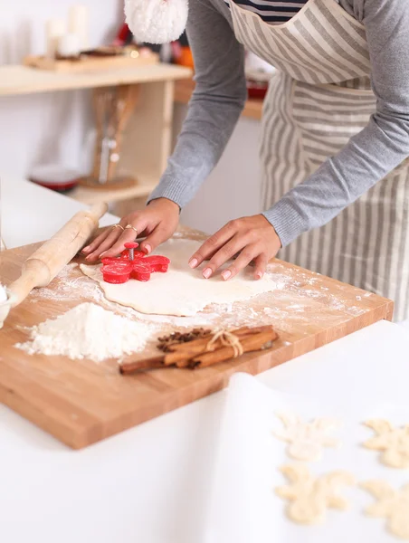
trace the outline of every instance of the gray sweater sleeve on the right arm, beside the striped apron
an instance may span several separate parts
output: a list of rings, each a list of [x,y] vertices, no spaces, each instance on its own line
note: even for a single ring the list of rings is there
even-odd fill
[[[409,2],[350,3],[366,27],[376,113],[338,155],[264,213],[283,246],[327,224],[409,156]]]

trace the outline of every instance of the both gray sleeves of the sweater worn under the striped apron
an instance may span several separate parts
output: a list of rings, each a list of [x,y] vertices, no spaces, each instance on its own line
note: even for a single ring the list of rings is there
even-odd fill
[[[365,24],[376,114],[338,155],[264,212],[283,246],[328,223],[409,156],[409,0],[339,4]],[[224,0],[190,0],[187,34],[196,88],[175,152],[149,198],[163,196],[181,208],[222,156],[246,100],[243,46]]]

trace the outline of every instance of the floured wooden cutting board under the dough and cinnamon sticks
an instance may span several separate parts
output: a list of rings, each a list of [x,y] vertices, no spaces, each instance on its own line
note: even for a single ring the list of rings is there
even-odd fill
[[[14,281],[22,263],[37,246],[0,253],[0,281]],[[80,273],[71,267],[52,282],[47,295],[39,296],[41,292],[37,292],[12,310],[0,330],[0,401],[63,443],[80,449],[212,394],[226,386],[236,371],[255,375],[377,320],[392,319],[390,300],[286,262],[276,261],[273,271],[288,278],[290,286],[264,294],[262,299],[242,302],[241,307],[231,310],[248,315],[250,325],[274,324],[280,339],[270,351],[194,371],[168,368],[120,376],[115,360],[96,364],[65,357],[30,356],[14,348],[28,338],[24,327],[90,301],[88,289],[83,294],[81,290],[73,292],[71,299],[49,295],[61,290],[62,282],[71,273]],[[223,319],[219,325],[223,326]]]

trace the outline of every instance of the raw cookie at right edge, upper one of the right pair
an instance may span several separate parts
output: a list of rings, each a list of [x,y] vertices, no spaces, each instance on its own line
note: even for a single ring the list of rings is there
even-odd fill
[[[364,443],[366,449],[383,451],[381,461],[387,466],[409,468],[409,424],[403,428],[394,428],[383,419],[366,421],[364,424],[377,434]]]

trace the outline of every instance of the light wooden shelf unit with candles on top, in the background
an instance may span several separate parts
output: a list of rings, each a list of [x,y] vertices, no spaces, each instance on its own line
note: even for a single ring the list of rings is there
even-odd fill
[[[138,185],[122,190],[93,190],[78,186],[70,196],[84,204],[124,202],[145,198],[157,185],[171,152],[175,81],[192,71],[170,64],[83,73],[40,70],[22,65],[0,66],[0,97],[138,85],[138,104],[123,135],[117,176],[133,176]],[[147,172],[147,173],[146,173]]]

